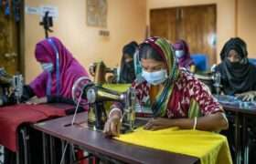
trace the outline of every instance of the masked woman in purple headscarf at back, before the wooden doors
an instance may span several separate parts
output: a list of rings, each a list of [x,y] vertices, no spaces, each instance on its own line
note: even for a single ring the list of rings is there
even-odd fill
[[[185,40],[178,40],[174,45],[176,51],[176,59],[178,67],[185,67],[190,70],[192,73],[196,72],[196,66],[192,58],[190,57],[189,49],[187,42]]]

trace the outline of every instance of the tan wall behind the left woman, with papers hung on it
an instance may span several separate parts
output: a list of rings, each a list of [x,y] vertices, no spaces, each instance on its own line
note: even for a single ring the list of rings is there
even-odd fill
[[[123,45],[144,39],[146,21],[145,0],[108,0],[109,37],[99,36],[102,28],[86,25],[86,0],[25,0],[25,5],[54,5],[59,7],[59,17],[54,22],[54,33],[69,51],[88,67],[93,61],[104,60],[107,66],[117,66]],[[44,38],[44,30],[38,26],[38,15],[25,15],[25,76],[31,81],[40,72],[34,51],[36,43]]]

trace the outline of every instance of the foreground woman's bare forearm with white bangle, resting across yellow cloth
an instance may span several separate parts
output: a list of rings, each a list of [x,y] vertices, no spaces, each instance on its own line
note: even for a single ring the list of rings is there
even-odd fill
[[[184,129],[193,128],[195,123],[194,118],[176,118],[171,120],[172,127]],[[199,130],[215,131],[220,129],[227,129],[228,127],[229,124],[227,118],[225,118],[225,116],[221,112],[197,118],[196,129]]]

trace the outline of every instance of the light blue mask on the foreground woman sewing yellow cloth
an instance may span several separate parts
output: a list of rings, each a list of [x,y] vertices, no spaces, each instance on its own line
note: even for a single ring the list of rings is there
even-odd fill
[[[142,76],[144,79],[152,85],[159,85],[163,83],[167,79],[167,71],[165,69],[161,69],[155,72],[147,72],[143,70]]]

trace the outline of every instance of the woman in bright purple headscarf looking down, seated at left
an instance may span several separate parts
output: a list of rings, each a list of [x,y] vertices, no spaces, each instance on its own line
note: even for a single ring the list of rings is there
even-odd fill
[[[80,77],[88,77],[86,70],[71,55],[69,50],[56,37],[49,37],[37,43],[35,51],[37,62],[43,68],[43,72],[23,89],[22,101],[28,104],[41,103],[70,103],[72,100],[71,89],[74,82]],[[32,98],[31,98],[32,97]],[[80,108],[80,110],[83,108]],[[72,111],[68,111],[70,113]],[[67,113],[67,112],[66,112]],[[69,114],[69,113],[67,113]],[[39,154],[42,154],[38,144],[41,143],[41,134],[35,130],[29,131],[29,147],[32,156],[31,163],[43,161]],[[37,139],[36,139],[37,138]],[[60,142],[57,144],[56,153],[60,152]],[[38,146],[38,147],[37,147]],[[16,154],[5,149],[5,163],[14,163]]]

